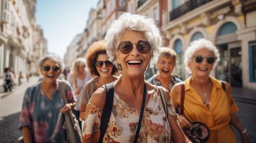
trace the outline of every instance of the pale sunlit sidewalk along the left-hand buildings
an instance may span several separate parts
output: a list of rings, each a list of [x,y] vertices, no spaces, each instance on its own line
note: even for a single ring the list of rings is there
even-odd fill
[[[4,96],[7,96],[7,95],[13,93],[14,91],[16,91],[19,88],[27,88],[27,87],[35,84],[38,81],[38,79],[39,79],[39,77],[33,76],[33,77],[29,78],[29,82],[27,82],[27,79],[22,80],[22,84],[21,85],[17,85],[16,84],[16,86],[14,88],[12,88],[11,92],[10,91],[8,91],[8,92],[0,92],[0,99],[2,97],[4,97]]]

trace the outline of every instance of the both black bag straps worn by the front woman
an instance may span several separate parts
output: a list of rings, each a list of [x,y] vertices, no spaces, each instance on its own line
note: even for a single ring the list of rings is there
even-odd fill
[[[100,139],[99,143],[102,143],[103,137],[105,135],[106,129],[108,127],[108,121],[111,115],[112,107],[113,107],[113,99],[114,99],[114,82],[108,83],[105,85],[106,87],[106,100],[104,104],[104,108],[101,114],[101,121],[100,121]],[[137,143],[137,140],[139,138],[139,133],[140,133],[140,127],[141,127],[141,122],[142,122],[142,117],[143,117],[143,112],[144,112],[144,107],[145,107],[145,101],[146,101],[146,83],[144,82],[144,93],[143,93],[143,100],[142,100],[142,105],[141,105],[141,110],[140,110],[140,119],[139,119],[139,124],[137,127],[135,139],[133,143]]]

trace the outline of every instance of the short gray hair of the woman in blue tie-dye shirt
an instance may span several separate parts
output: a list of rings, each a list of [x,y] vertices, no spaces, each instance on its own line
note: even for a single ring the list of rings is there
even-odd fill
[[[49,55],[46,55],[44,56],[40,61],[39,61],[39,68],[42,69],[43,68],[43,65],[44,65],[44,62],[47,61],[47,60],[53,60],[55,62],[57,62],[57,64],[59,65],[60,67],[60,72],[62,72],[63,68],[64,68],[64,62],[61,60],[60,56],[58,55],[55,55],[55,54],[49,54]]]

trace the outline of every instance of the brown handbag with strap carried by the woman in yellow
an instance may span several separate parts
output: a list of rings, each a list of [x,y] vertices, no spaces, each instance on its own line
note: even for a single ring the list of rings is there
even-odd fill
[[[180,115],[183,115],[184,99],[185,99],[185,85],[184,82],[180,82],[181,85],[181,98],[180,98]],[[210,129],[206,124],[199,121],[192,121],[191,127],[184,127],[182,131],[186,137],[193,143],[205,143],[210,137]]]

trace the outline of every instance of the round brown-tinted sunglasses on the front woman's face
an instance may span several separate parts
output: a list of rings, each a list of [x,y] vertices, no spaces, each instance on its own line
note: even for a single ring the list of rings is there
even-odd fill
[[[122,41],[117,48],[121,53],[128,54],[132,51],[132,44],[137,44],[137,49],[141,54],[147,54],[151,49],[151,45],[148,41],[138,41],[138,43]]]

